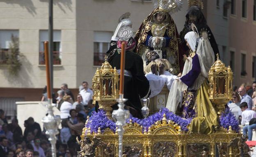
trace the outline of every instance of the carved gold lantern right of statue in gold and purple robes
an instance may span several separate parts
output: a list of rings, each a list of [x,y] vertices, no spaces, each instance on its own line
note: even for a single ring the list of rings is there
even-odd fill
[[[217,114],[220,115],[225,109],[225,104],[232,99],[233,72],[230,66],[226,67],[219,60],[219,55],[210,68],[208,80],[210,81],[209,99],[216,104]]]

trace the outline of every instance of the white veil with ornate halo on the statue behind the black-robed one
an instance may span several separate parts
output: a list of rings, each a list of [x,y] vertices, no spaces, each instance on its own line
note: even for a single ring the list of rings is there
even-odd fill
[[[113,41],[119,40],[118,32],[122,27],[128,27],[128,26],[131,27],[132,26],[133,23],[129,18],[130,18],[130,13],[128,13],[128,12],[121,15],[121,17],[118,20],[119,24],[117,25],[117,29],[114,32],[114,35],[112,36],[111,40],[113,40]]]

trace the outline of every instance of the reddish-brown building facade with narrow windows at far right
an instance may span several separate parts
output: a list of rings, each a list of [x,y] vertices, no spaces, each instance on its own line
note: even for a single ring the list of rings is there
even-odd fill
[[[231,0],[229,60],[233,84],[256,80],[256,0]]]

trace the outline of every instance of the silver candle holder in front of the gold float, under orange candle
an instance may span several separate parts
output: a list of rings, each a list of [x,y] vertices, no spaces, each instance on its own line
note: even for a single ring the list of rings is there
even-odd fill
[[[119,150],[118,150],[118,156],[122,157],[123,155],[123,126],[126,124],[126,119],[130,117],[130,111],[124,109],[124,102],[126,102],[127,99],[123,98],[123,94],[119,95],[119,99],[117,99],[118,109],[114,110],[112,113],[112,117],[117,125],[117,133],[119,135]]]

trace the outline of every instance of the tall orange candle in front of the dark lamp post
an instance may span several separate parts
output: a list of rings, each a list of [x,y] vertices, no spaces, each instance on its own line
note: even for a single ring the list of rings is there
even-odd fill
[[[44,59],[46,64],[46,82],[47,82],[47,97],[48,99],[52,98],[52,93],[50,91],[50,64],[49,64],[49,49],[48,41],[44,42]]]

